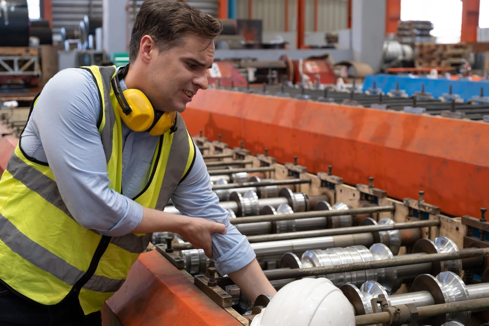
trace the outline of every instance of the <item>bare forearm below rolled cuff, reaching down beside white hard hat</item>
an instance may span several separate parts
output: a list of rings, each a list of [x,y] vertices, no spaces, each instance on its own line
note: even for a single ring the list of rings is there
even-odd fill
[[[242,269],[229,273],[229,277],[253,302],[260,294],[268,294],[273,297],[277,293],[263,274],[256,259]]]

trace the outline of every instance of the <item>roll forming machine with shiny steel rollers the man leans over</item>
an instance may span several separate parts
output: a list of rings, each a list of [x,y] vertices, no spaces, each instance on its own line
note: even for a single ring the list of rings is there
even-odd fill
[[[448,217],[423,192],[399,201],[376,188],[374,178],[347,185],[332,167],[310,174],[297,160],[281,165],[266,154],[251,155],[243,144],[230,149],[202,134],[194,141],[229,222],[247,237],[276,289],[304,277],[327,278],[350,301],[357,326],[479,326],[489,320],[485,208],[480,218]],[[172,205],[165,212],[179,214]],[[152,242],[156,250],[141,255],[105,316],[115,314],[128,325],[140,321],[140,309],[132,307],[137,298],[138,307],[153,305],[144,314],[151,316],[148,325],[158,318],[249,325],[269,302],[266,295],[251,302],[179,235],[155,233]],[[152,287],[151,295],[141,286]],[[155,300],[172,309],[155,309]]]

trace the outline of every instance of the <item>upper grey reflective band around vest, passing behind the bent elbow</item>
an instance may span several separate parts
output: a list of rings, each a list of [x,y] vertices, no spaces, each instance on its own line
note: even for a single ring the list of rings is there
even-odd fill
[[[56,182],[47,175],[44,175],[26,164],[15,154],[15,152],[12,153],[12,156],[8,161],[7,171],[12,174],[14,179],[21,181],[27,188],[43,197],[47,202],[59,208],[68,217],[75,220],[69,213]],[[90,231],[100,235],[98,231]],[[148,247],[149,239],[148,236],[138,237],[134,234],[128,234],[122,237],[112,237],[111,243],[130,253],[139,254]]]

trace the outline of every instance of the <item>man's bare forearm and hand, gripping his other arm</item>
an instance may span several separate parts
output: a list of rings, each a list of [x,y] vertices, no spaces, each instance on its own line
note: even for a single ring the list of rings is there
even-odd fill
[[[131,233],[151,232],[178,233],[192,243],[194,248],[203,249],[205,256],[212,258],[212,239],[214,232],[226,233],[226,226],[200,217],[188,217],[157,211],[143,207],[143,219]]]

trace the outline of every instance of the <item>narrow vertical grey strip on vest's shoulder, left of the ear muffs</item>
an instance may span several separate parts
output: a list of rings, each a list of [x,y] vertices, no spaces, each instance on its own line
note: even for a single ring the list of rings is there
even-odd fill
[[[101,137],[102,137],[102,145],[104,146],[105,159],[107,163],[111,159],[112,155],[112,138],[113,138],[113,130],[115,124],[115,114],[114,109],[112,107],[112,101],[110,97],[111,90],[111,79],[112,75],[115,72],[114,67],[99,67],[100,75],[102,75],[102,83],[104,83],[103,91],[104,92],[104,103],[105,103],[105,126],[102,129]],[[102,107],[102,103],[100,103],[100,107]]]

